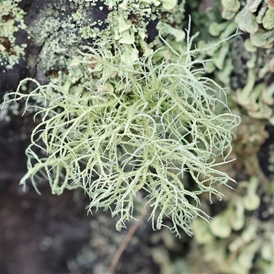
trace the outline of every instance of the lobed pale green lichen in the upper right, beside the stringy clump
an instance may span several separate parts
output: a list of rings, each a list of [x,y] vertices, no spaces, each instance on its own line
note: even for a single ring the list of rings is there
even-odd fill
[[[255,3],[253,4],[255,5]],[[235,18],[240,29],[246,31],[246,27],[252,27],[252,23],[247,20],[248,16],[252,17],[251,21],[255,20],[254,14],[250,12],[249,8],[249,5],[245,5],[245,8],[238,12]],[[223,23],[216,21],[217,17],[214,12],[216,13],[212,10],[208,14],[208,18],[212,22],[209,21],[208,26],[205,26],[205,28],[208,27],[210,34],[214,37],[207,37],[208,42],[200,40],[197,45],[198,48],[207,47],[211,42],[216,41],[215,36],[225,38],[236,29],[234,21]],[[238,22],[238,20],[240,21]],[[245,24],[245,26],[240,24]],[[258,23],[253,25],[253,30],[249,29],[249,32],[256,31],[256,29],[258,29]],[[212,61],[206,64],[208,73],[214,73],[214,79],[226,85],[228,88],[227,95],[233,95],[235,92],[234,100],[247,110],[249,116],[256,119],[267,119],[271,123],[274,121],[273,100],[271,100],[273,92],[266,83],[269,81],[267,79],[271,78],[272,73],[273,63],[269,61],[272,60],[273,56],[273,32],[274,30],[258,29],[250,34],[250,38],[245,40],[245,47],[241,45],[244,40],[237,37],[223,43],[219,49],[211,49],[199,56],[202,59],[212,58]],[[263,49],[258,49],[258,47]],[[236,58],[239,55],[241,56],[240,60]],[[234,71],[241,75],[241,78],[234,79]],[[235,106],[235,108],[237,107]]]

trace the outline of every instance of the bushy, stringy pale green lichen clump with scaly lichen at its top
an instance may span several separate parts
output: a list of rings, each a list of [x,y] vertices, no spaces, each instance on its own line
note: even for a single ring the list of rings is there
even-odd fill
[[[186,34],[169,25],[172,12],[178,16],[176,1],[101,5],[99,10],[110,10],[105,23],[116,25],[96,29],[97,22],[88,32],[81,30],[93,39],[92,46],[66,58],[67,71],[55,77],[59,84],[27,78],[5,97],[2,108],[25,99],[23,114],[34,108],[34,119],[40,117],[21,184],[30,180],[38,191],[46,179],[57,195],[83,188],[90,212],[105,208],[120,216],[117,229],[133,218],[141,192],[151,207],[153,228],[166,226],[167,216],[173,232],[179,234],[181,227],[190,235],[190,221],[209,218],[199,208],[199,195],[221,199],[216,184],[234,181],[216,166],[227,162],[239,117],[230,112],[221,86],[203,76],[205,61],[191,49],[190,25]],[[171,14],[160,22],[163,10]],[[159,21],[158,44],[148,41],[146,12]],[[77,21],[80,15],[71,16]],[[165,35],[166,27],[171,36]],[[37,88],[22,92],[27,82]]]

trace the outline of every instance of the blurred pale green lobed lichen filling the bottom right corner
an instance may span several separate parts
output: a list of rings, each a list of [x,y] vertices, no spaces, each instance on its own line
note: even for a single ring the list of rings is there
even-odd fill
[[[211,227],[201,220],[193,224],[199,249],[196,247],[190,253],[196,253],[195,256],[199,256],[196,258],[204,254],[203,260],[208,262],[208,267],[213,267],[214,273],[273,272],[273,222],[267,220],[267,216],[273,214],[273,197],[264,197],[262,194],[259,197],[260,184],[257,176],[251,177],[249,182],[239,182],[237,193],[227,199],[227,208],[214,217]],[[267,203],[267,206],[262,206],[266,206],[265,210],[269,212],[265,216],[262,216],[264,213],[260,203]],[[253,213],[246,214],[246,210]],[[257,219],[259,214],[262,221]],[[266,220],[263,220],[264,217]],[[197,273],[201,270],[195,267],[190,269]]]

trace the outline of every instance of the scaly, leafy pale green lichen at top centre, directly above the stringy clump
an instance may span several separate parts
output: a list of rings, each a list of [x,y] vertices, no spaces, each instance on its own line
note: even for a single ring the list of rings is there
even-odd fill
[[[90,1],[88,4],[84,1],[79,1],[79,8],[73,14],[73,18],[78,25],[83,25],[83,20],[87,17],[84,13],[86,5],[97,5],[98,1]],[[160,4],[160,3],[159,3]],[[176,4],[176,1],[175,1]],[[160,15],[160,5],[158,3],[147,3],[146,1],[130,2],[130,1],[104,1],[101,3],[101,10],[108,10],[106,18],[101,21],[93,21],[89,25],[83,25],[80,28],[83,38],[103,38],[105,47],[115,47],[123,45],[127,47],[127,53],[122,61],[131,63],[138,59],[139,51],[149,54],[148,45],[143,43],[148,38],[147,25],[149,21],[155,20]],[[146,18],[146,20],[145,20]],[[88,19],[88,18],[86,18]],[[136,45],[140,49],[136,49]]]

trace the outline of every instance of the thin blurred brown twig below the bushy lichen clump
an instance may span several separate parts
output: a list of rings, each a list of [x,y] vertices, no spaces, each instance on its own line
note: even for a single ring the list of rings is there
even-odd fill
[[[136,232],[136,229],[138,228],[138,225],[140,224],[140,221],[142,221],[142,219],[144,218],[145,214],[147,214],[147,210],[144,208],[142,212],[140,213],[140,215],[138,216],[138,221],[136,221],[134,225],[130,227],[129,232],[127,232],[127,236],[125,236],[125,239],[123,240],[119,249],[116,251],[115,256],[112,259],[112,262],[108,269],[108,274],[113,274],[116,264],[119,262],[119,259],[121,255],[123,254],[123,251],[125,251],[125,248],[129,244],[129,241],[132,239],[132,236],[134,236],[134,233]]]

